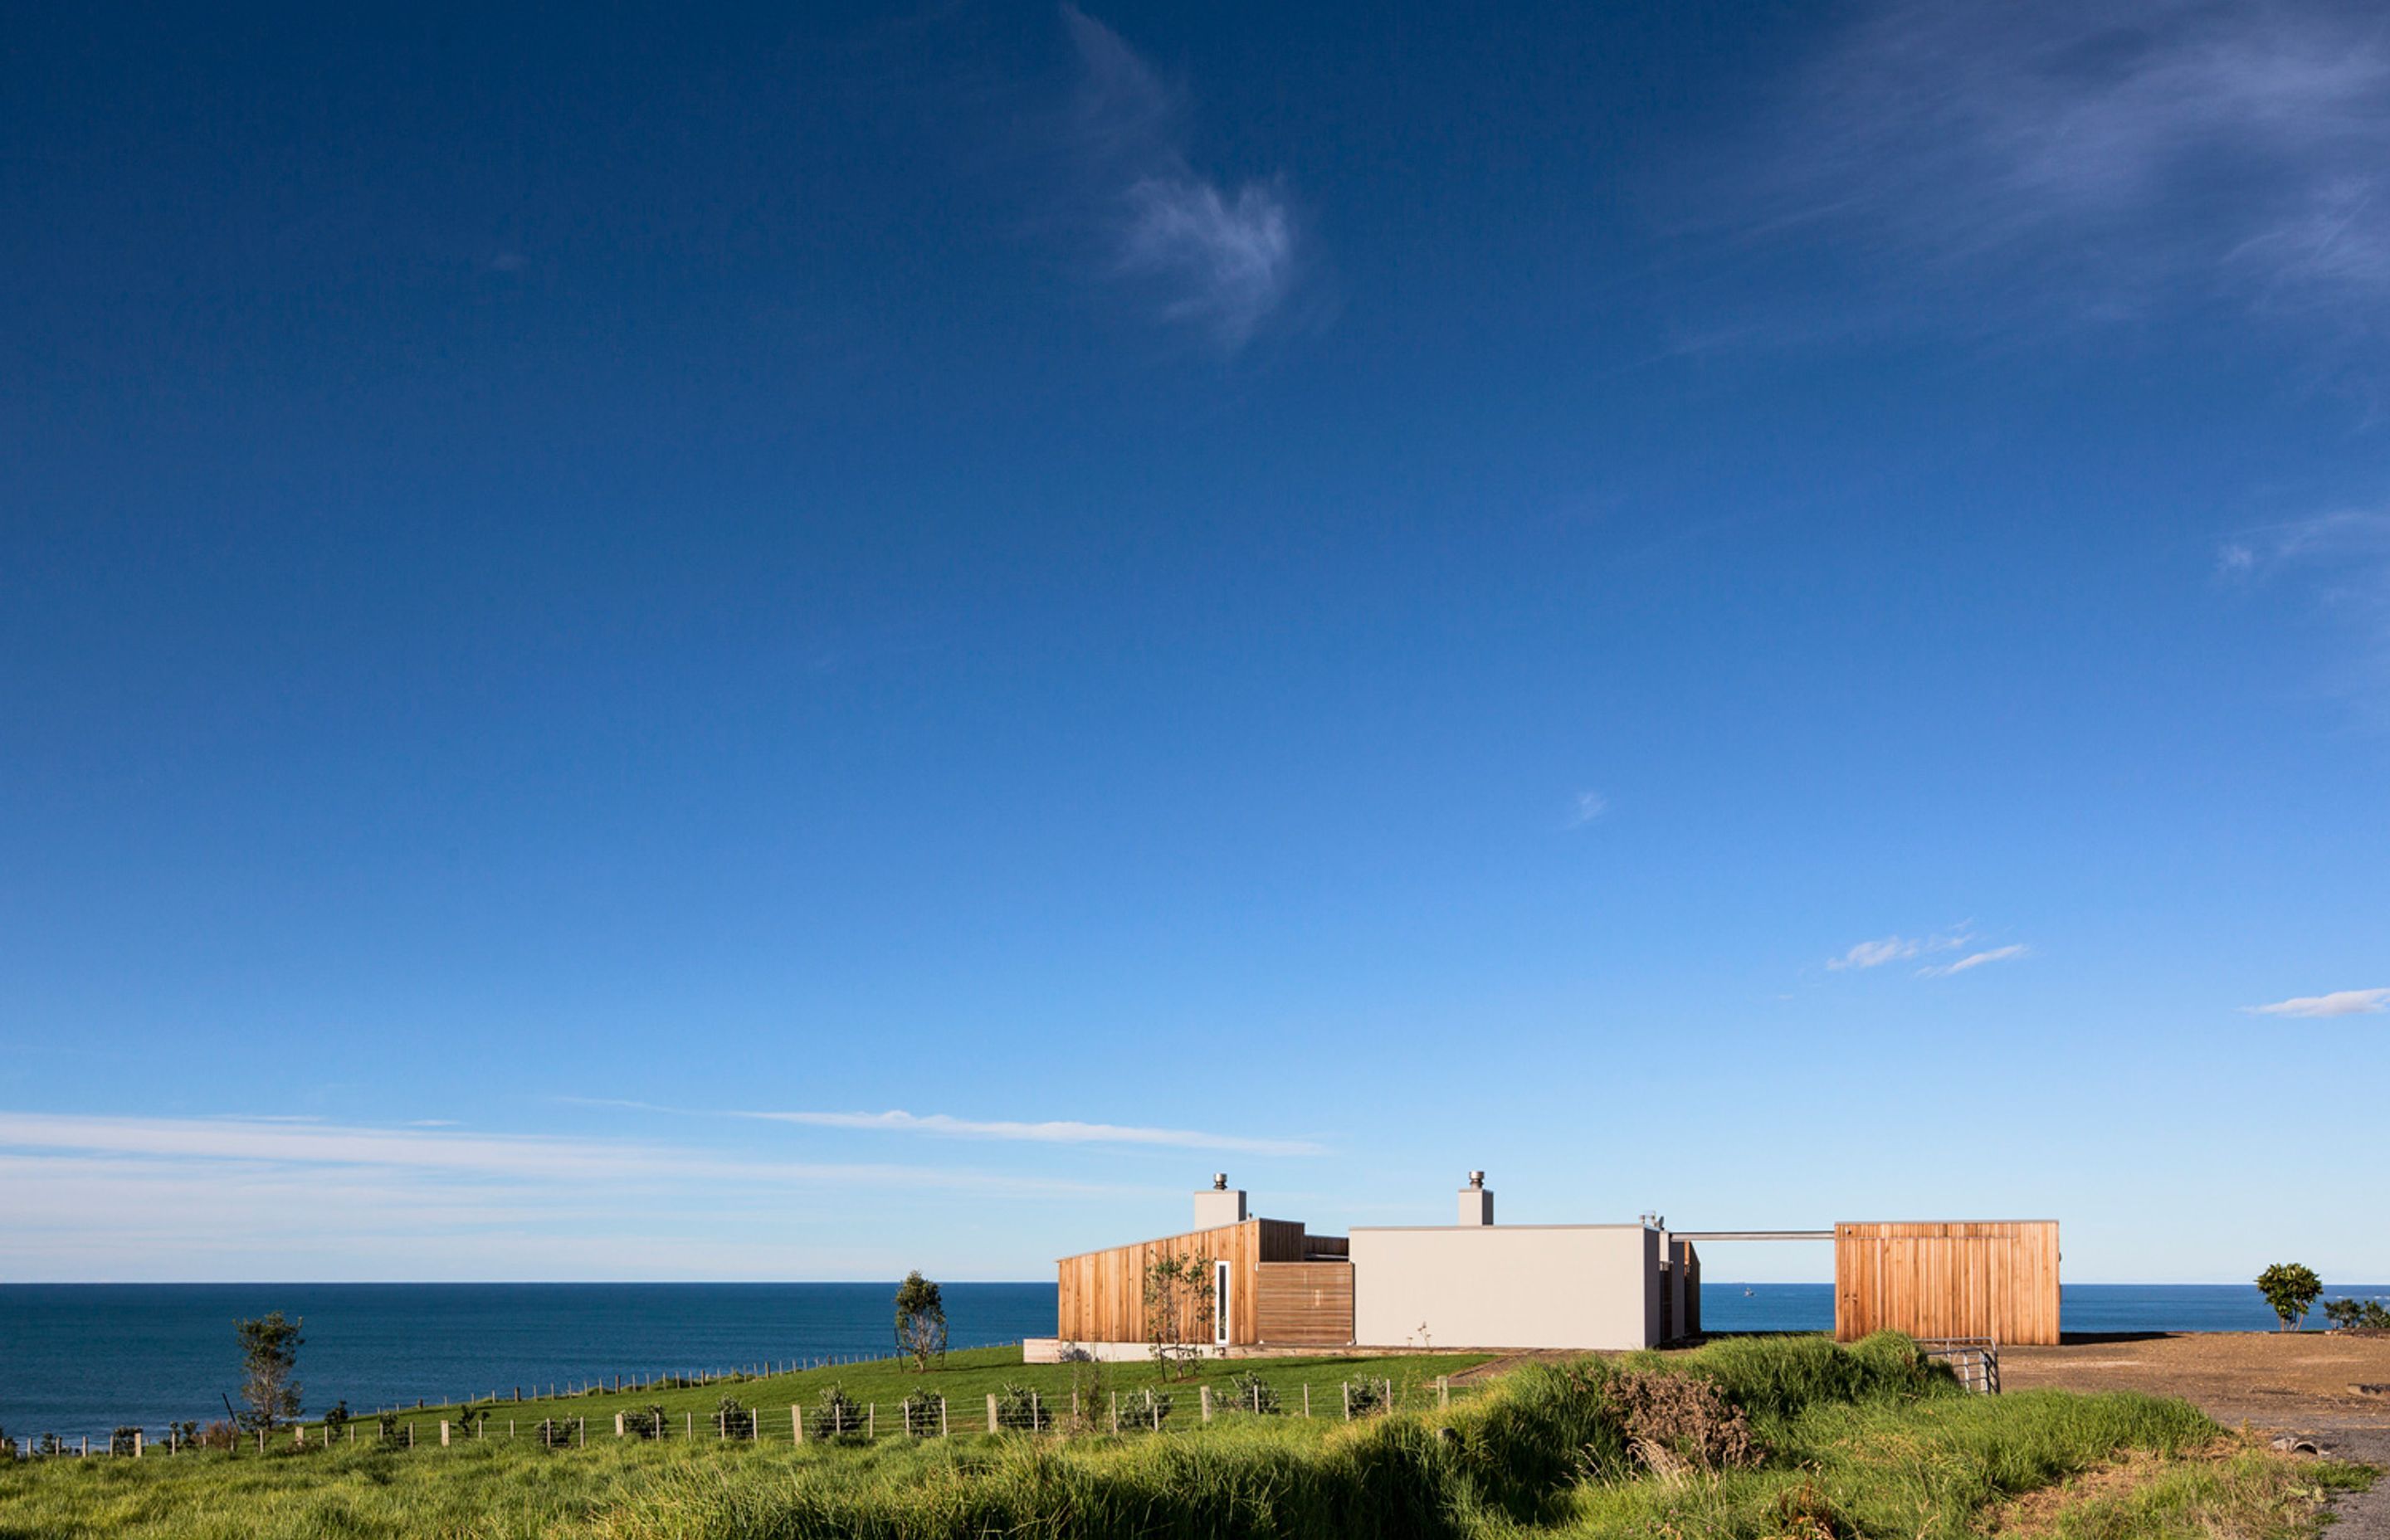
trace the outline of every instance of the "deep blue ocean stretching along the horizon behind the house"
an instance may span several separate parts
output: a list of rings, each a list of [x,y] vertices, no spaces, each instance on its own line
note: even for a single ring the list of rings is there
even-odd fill
[[[0,1430],[225,1416],[232,1322],[306,1318],[308,1413],[894,1351],[894,1284],[0,1284]],[[2390,1287],[2333,1289],[2390,1298]],[[954,1346],[1044,1337],[1054,1284],[946,1284]],[[2067,1284],[2067,1332],[2263,1332],[2249,1284]],[[1833,1327],[1831,1284],[1704,1282],[1711,1332]],[[2314,1318],[2311,1325],[2323,1325]]]

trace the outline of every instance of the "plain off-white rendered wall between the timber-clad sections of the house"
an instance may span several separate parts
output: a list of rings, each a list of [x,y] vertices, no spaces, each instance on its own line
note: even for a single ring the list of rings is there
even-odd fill
[[[1642,1224],[1353,1229],[1353,1342],[1640,1349],[1659,1332],[1659,1232]]]

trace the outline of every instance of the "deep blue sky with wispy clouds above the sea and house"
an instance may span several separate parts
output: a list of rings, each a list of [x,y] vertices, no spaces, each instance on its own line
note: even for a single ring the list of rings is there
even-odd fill
[[[2364,7],[53,7],[0,136],[7,1277],[2390,1277]]]

